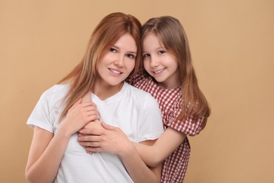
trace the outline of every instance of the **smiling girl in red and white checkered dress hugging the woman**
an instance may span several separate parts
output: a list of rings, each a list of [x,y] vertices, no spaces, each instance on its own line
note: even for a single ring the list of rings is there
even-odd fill
[[[161,182],[182,182],[190,158],[187,135],[195,136],[204,129],[210,109],[197,83],[188,39],[176,18],[162,16],[148,20],[143,25],[142,45],[144,70],[131,77],[129,83],[157,99],[165,131],[154,145],[136,144],[136,148],[147,165],[162,162]],[[121,132],[104,123],[103,127]],[[81,142],[89,146],[87,151],[111,151],[103,139],[107,131],[82,132],[102,137],[96,138],[96,146],[92,136],[80,138],[89,141]]]

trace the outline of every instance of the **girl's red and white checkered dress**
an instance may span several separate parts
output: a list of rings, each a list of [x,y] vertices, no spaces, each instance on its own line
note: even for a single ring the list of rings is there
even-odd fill
[[[158,101],[159,108],[162,111],[162,120],[164,130],[172,127],[186,135],[195,136],[202,130],[202,120],[186,118],[186,120],[176,120],[181,113],[181,86],[175,89],[163,89],[159,87],[152,77],[144,77],[141,72],[127,80],[129,84],[149,92]],[[190,144],[188,137],[185,137],[183,143],[171,153],[171,155],[162,163],[161,182],[183,182],[188,160],[190,158]]]

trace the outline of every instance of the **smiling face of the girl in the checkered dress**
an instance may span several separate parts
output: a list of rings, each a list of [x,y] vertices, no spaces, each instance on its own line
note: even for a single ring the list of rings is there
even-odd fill
[[[155,34],[146,35],[143,39],[143,64],[159,86],[174,89],[178,87],[178,61],[162,45]]]

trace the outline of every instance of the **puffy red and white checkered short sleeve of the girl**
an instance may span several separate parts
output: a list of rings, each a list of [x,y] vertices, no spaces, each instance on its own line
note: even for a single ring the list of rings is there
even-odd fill
[[[178,101],[178,103],[181,103]],[[179,132],[183,132],[186,135],[195,136],[200,133],[202,130],[202,122],[204,117],[202,118],[192,118],[192,116],[188,116],[183,120],[176,120],[178,115],[182,113],[182,108],[179,105],[174,105],[171,111],[169,111],[169,120],[167,124],[168,127],[173,128],[174,130],[178,130]]]

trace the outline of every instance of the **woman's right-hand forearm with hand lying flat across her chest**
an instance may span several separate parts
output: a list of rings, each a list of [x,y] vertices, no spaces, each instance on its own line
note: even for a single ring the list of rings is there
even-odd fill
[[[118,127],[111,127],[102,122],[105,129],[83,129],[78,140],[87,151],[117,154],[123,161],[133,182],[160,182],[161,165],[148,168],[136,151],[134,144]],[[92,134],[92,135],[91,135]],[[152,145],[154,141],[143,141],[142,144]]]

